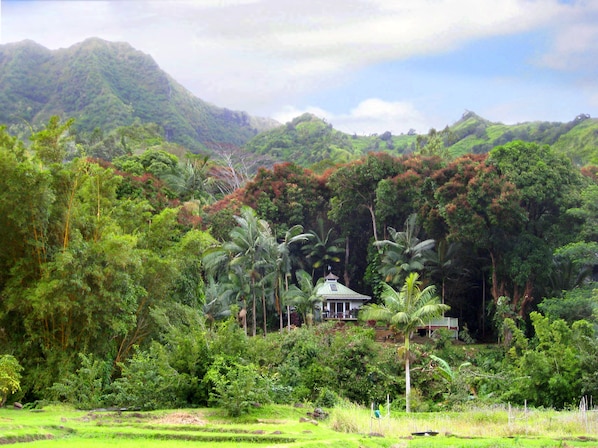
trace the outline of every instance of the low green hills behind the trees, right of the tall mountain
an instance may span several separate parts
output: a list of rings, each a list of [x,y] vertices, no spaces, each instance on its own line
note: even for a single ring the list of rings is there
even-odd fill
[[[345,134],[312,114],[303,114],[284,126],[258,134],[247,142],[245,149],[274,160],[325,169],[360,158],[368,152],[401,155],[442,151],[458,157],[467,153],[487,153],[495,146],[513,140],[553,145],[576,165],[598,165],[598,119],[588,115],[579,115],[568,123],[538,121],[505,125],[466,112],[441,131],[430,130],[423,135],[384,132],[366,137]]]

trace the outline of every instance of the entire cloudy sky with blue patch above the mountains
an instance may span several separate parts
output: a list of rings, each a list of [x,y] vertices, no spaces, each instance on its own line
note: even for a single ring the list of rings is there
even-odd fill
[[[369,135],[598,115],[598,0],[0,3],[0,44],[128,42],[199,98]]]

